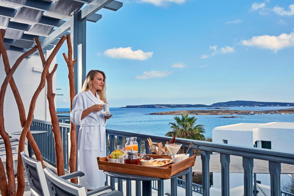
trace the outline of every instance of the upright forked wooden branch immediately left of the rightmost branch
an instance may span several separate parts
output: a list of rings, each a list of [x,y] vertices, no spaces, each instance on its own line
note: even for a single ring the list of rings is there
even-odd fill
[[[41,43],[37,38],[34,38],[43,67],[45,66],[45,57],[42,51]],[[64,175],[64,159],[63,159],[63,148],[62,148],[62,140],[61,140],[61,133],[59,128],[59,120],[57,118],[57,113],[54,105],[54,97],[55,93],[53,93],[52,89],[52,78],[57,69],[57,64],[55,64],[51,73],[48,73],[46,76],[47,80],[47,99],[49,103],[49,112],[51,117],[51,124],[52,124],[52,132],[54,134],[54,144],[55,144],[55,152],[56,152],[56,168],[57,168],[57,175],[61,176]]]

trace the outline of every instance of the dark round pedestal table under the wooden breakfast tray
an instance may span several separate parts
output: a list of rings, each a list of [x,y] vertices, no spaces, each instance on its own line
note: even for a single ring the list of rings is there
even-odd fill
[[[118,179],[142,181],[142,190],[143,190],[142,191],[142,196],[151,196],[152,195],[151,181],[153,181],[153,180],[167,180],[167,179],[163,179],[163,178],[148,177],[148,176],[133,175],[133,174],[125,174],[125,173],[119,173],[119,172],[110,172],[110,171],[103,171],[103,172],[106,175],[109,175],[111,177],[115,177],[115,178],[118,178]],[[190,172],[190,167],[183,170],[183,171],[181,171],[181,172],[178,172],[177,174],[175,174],[173,176],[171,176],[170,179],[180,177],[182,175],[187,174],[188,172]],[[128,191],[132,191],[132,190],[127,190],[127,192]]]

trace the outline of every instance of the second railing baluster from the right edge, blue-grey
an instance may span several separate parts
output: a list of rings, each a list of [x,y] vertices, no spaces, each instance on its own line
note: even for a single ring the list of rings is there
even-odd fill
[[[253,159],[243,157],[243,169],[244,169],[244,196],[252,196],[252,170]]]

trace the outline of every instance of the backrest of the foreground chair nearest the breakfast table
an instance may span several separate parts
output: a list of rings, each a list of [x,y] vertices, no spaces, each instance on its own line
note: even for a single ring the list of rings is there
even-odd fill
[[[50,168],[44,169],[50,195],[55,196],[86,196],[86,188],[56,175]]]

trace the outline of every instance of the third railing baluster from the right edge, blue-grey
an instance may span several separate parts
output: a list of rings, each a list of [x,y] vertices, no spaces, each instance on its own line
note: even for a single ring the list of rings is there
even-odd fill
[[[221,165],[221,194],[230,195],[230,155],[220,154]]]

